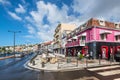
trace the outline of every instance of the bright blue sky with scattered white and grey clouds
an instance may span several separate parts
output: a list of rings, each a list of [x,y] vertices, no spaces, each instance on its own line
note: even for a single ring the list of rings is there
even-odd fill
[[[0,46],[53,40],[59,23],[76,27],[90,18],[120,22],[120,0],[0,0]]]

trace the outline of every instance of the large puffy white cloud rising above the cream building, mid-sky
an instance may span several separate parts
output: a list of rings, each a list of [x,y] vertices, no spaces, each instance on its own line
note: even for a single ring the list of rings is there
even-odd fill
[[[30,16],[25,19],[32,23],[36,28],[36,37],[42,41],[52,40],[54,29],[59,22],[63,23],[76,23],[74,15],[68,16],[68,6],[63,4],[63,6],[58,8],[55,4],[45,3],[44,1],[38,1],[36,3],[37,10],[31,11]],[[47,22],[44,21],[46,18]]]

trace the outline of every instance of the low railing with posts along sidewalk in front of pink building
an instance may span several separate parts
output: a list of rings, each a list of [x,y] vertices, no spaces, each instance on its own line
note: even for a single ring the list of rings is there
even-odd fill
[[[58,58],[58,68],[70,68],[70,67],[95,67],[103,65],[120,64],[115,60],[106,59],[90,59],[89,57],[84,57],[83,59],[78,59],[77,57],[65,57]]]

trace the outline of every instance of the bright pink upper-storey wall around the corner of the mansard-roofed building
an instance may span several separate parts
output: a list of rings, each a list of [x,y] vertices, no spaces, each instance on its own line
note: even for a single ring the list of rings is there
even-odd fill
[[[91,41],[104,41],[101,40],[100,32],[101,31],[109,31],[111,33],[107,34],[106,42],[116,42],[115,40],[115,33],[120,33],[118,30],[112,30],[112,29],[105,29],[105,28],[92,28],[86,30],[86,42],[91,42]]]

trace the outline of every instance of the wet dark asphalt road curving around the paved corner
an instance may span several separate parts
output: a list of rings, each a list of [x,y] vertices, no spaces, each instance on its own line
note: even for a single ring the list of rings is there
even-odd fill
[[[0,80],[114,80],[119,78],[120,74],[111,77],[101,76],[98,71],[88,69],[68,71],[68,72],[43,72],[25,68],[25,63],[32,55],[23,58],[15,58],[7,61],[0,61]],[[10,62],[9,62],[10,61]],[[6,63],[5,63],[6,62]],[[2,63],[4,63],[2,65]],[[119,69],[119,68],[118,68]],[[104,69],[102,70],[104,71]],[[100,70],[99,70],[100,72]],[[90,79],[97,77],[98,79]]]

